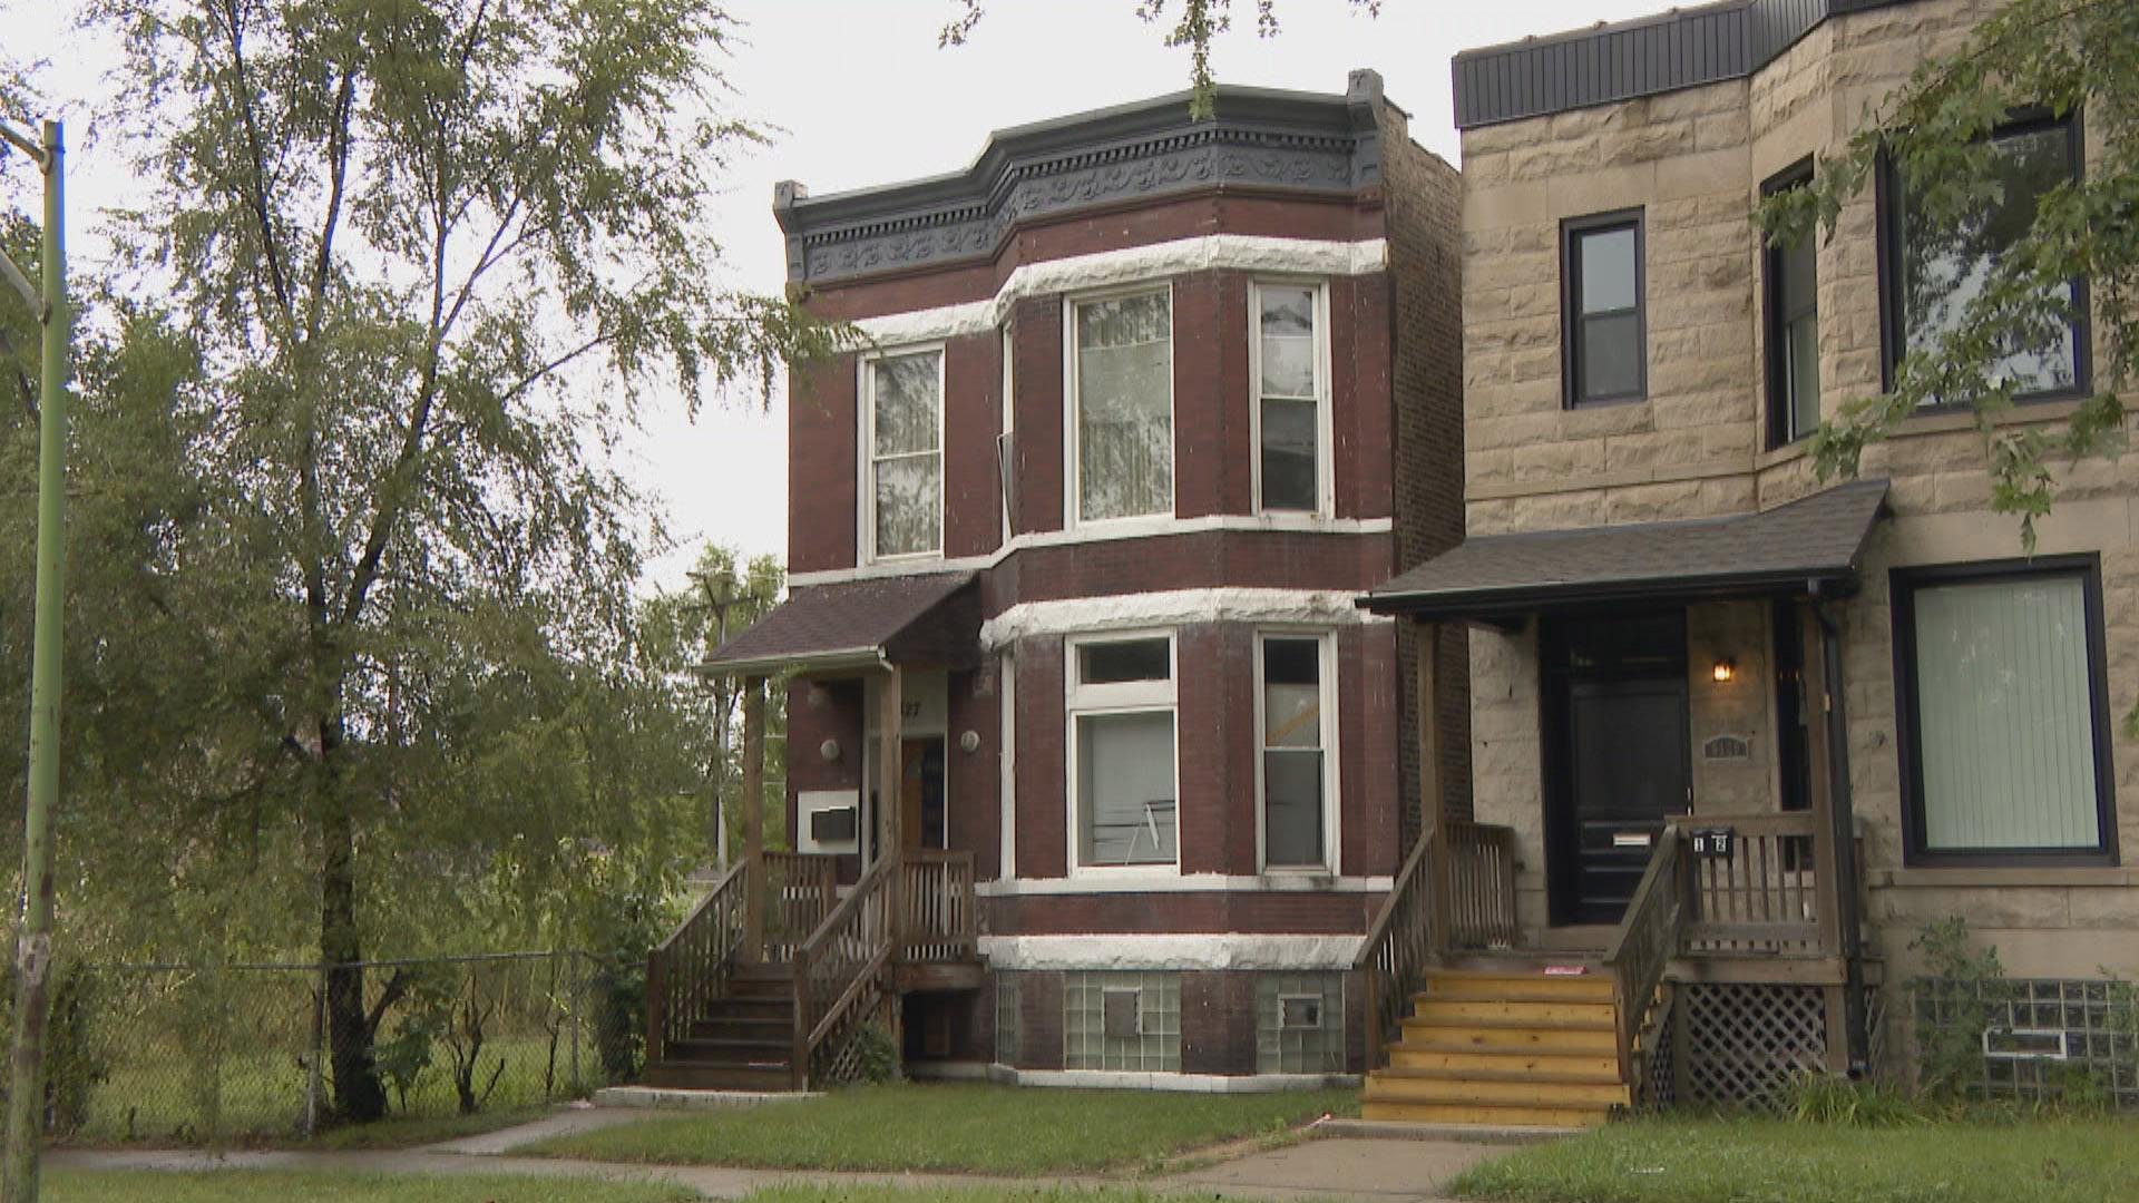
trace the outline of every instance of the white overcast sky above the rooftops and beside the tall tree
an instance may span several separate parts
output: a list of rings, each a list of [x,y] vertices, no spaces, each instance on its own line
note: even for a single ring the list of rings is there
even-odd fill
[[[1412,137],[1457,161],[1448,58],[1467,47],[1549,34],[1591,21],[1658,13],[1668,0],[1384,0],[1375,19],[1348,0],[1279,0],[1283,32],[1253,36],[1253,0],[1234,0],[1238,28],[1213,56],[1226,83],[1341,92],[1345,73],[1382,73],[1388,98],[1412,113]],[[0,54],[66,64],[39,83],[81,124],[103,64],[68,34],[62,0],[0,0]],[[971,45],[937,49],[956,0],[729,0],[744,21],[727,64],[742,116],[779,126],[714,199],[719,238],[736,283],[779,291],[785,250],[772,223],[772,184],[800,180],[813,195],[890,184],[965,167],[992,128],[1119,105],[1187,86],[1187,51],[1134,15],[1134,0],[986,0]],[[73,156],[77,229],[124,199],[126,178],[98,171],[94,143]],[[77,263],[98,257],[94,235],[73,240]],[[655,561],[648,587],[676,587],[704,539],[747,554],[787,548],[787,424],[755,394],[708,407],[695,424],[680,409],[648,415],[625,471],[667,501],[680,548]]]

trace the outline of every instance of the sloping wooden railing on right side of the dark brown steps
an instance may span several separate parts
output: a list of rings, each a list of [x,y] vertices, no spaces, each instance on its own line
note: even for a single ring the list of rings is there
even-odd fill
[[[796,1090],[809,1090],[813,1057],[836,1051],[838,1040],[883,1000],[896,884],[901,884],[896,863],[877,861],[794,948],[796,1025],[789,1066]]]

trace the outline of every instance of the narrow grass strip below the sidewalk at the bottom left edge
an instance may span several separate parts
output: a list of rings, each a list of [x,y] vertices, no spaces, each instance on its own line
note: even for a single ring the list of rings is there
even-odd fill
[[[398,1173],[299,1173],[270,1169],[66,1171],[45,1175],[47,1203],[680,1203],[682,1186],[584,1177],[415,1177]]]

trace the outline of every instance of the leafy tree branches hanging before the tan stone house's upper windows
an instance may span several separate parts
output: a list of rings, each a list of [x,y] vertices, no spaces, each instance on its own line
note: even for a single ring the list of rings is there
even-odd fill
[[[1991,135],[2015,113],[2083,113],[2086,173],[2058,180],[2032,212],[2006,188],[2043,165],[2030,148]],[[2056,460],[2124,450],[2120,394],[2139,383],[2139,4],[2130,0],[2011,0],[1968,39],[1927,58],[1906,86],[1867,111],[1850,141],[1822,154],[1805,188],[1767,199],[1756,220],[1775,244],[1833,233],[1846,201],[1891,165],[1908,195],[1910,287],[1936,280],[1929,261],[1987,263],[1976,287],[1942,298],[1940,328],[1902,355],[1889,390],[1846,402],[1812,439],[1822,479],[1857,475],[1865,447],[1929,402],[1966,405],[1983,437],[1991,509],[2034,522],[2058,497]],[[2049,165],[2051,178],[2062,161]],[[2086,280],[2086,291],[2073,289]],[[2092,315],[2079,313],[2081,298]],[[1914,298],[1914,310],[1925,298]],[[2011,422],[2023,375],[2015,357],[2058,355],[2075,319],[2092,317],[2090,394],[2056,424]],[[1912,338],[1914,342],[1914,338]],[[2126,717],[2139,736],[2139,709]]]

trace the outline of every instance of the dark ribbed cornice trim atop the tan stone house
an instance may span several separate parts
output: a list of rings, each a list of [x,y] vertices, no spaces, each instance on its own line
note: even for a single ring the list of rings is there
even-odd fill
[[[1773,62],[1827,17],[1908,2],[1912,0],[1724,0],[1467,49],[1452,64],[1457,128],[1741,79]]]

